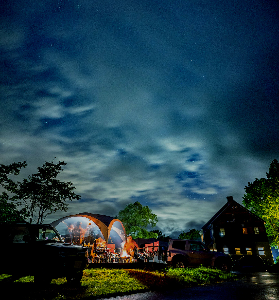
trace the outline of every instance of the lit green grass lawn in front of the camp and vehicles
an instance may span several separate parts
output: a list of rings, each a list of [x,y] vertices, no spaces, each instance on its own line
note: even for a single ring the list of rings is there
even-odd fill
[[[79,285],[71,285],[65,278],[53,279],[49,285],[36,285],[33,276],[14,278],[0,275],[2,292],[8,291],[13,299],[96,299],[108,296],[133,294],[156,290],[170,290],[184,287],[236,280],[237,276],[220,270],[200,268],[165,271],[144,271],[137,269],[86,269]]]

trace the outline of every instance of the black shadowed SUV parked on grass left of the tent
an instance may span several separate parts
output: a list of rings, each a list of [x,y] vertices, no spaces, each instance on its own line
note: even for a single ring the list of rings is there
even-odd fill
[[[34,275],[35,282],[50,283],[61,277],[80,282],[89,264],[85,247],[64,243],[49,224],[6,223],[0,228],[5,236],[5,247],[0,247],[0,274]]]

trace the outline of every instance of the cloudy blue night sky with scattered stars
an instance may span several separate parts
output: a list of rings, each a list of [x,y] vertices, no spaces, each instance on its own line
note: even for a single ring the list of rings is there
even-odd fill
[[[67,214],[130,202],[177,237],[279,159],[277,1],[7,0],[1,164],[57,157]]]

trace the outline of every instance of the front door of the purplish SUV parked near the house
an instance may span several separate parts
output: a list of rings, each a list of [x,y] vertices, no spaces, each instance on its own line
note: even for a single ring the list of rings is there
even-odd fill
[[[205,245],[199,241],[189,241],[189,257],[191,265],[211,265],[212,253],[209,249],[206,248],[204,250],[204,248],[206,248]]]

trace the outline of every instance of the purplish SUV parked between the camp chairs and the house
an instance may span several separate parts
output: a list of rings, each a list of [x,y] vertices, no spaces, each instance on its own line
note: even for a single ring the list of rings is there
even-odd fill
[[[165,261],[168,265],[186,268],[199,265],[212,266],[223,271],[232,269],[233,261],[228,254],[210,251],[200,241],[169,240],[165,249]]]

